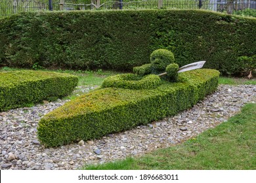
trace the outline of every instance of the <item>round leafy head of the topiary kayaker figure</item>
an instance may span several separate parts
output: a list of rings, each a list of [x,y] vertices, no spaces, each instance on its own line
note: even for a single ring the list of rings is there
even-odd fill
[[[156,71],[164,71],[167,65],[174,63],[173,53],[169,50],[158,49],[154,50],[150,55],[152,69]]]

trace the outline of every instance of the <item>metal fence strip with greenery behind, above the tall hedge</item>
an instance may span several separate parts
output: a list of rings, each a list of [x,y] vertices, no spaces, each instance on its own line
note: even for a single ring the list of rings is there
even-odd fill
[[[26,11],[144,8],[205,9],[256,17],[256,0],[0,0],[0,18]]]

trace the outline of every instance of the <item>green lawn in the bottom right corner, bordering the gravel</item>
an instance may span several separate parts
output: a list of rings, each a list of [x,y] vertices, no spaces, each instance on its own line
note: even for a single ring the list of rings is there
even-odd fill
[[[177,146],[82,169],[256,169],[256,104]]]

